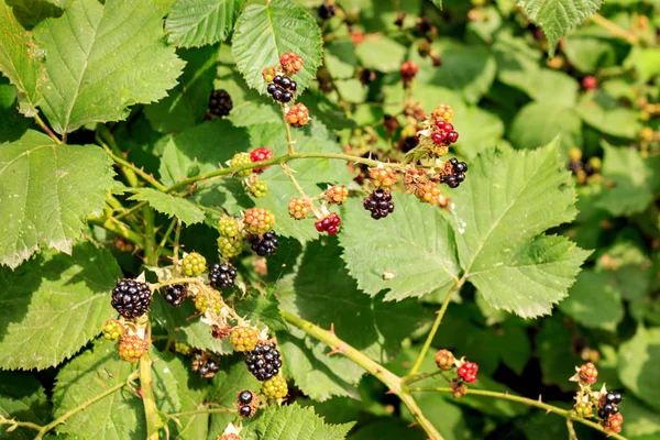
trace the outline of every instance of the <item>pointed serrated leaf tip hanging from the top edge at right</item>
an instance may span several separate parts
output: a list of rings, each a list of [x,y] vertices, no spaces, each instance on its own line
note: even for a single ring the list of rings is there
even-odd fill
[[[603,0],[519,0],[527,16],[541,26],[550,45],[550,56],[559,38],[596,13]]]

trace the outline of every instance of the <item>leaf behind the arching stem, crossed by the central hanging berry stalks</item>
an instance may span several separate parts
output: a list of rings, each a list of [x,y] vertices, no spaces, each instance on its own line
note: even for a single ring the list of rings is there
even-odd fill
[[[253,145],[267,145],[276,156],[286,154],[286,134],[283,124],[253,125],[250,131]],[[297,153],[341,153],[341,146],[331,138],[328,129],[318,121],[312,121],[305,129],[293,134]],[[345,162],[329,158],[306,158],[290,162],[296,179],[309,195],[317,195],[328,185],[350,182]],[[311,220],[295,220],[288,213],[288,200],[298,197],[298,191],[289,178],[277,166],[272,166],[262,174],[268,185],[268,195],[255,199],[260,207],[267,208],[277,219],[275,230],[284,237],[293,237],[300,242],[315,240],[319,233]]]

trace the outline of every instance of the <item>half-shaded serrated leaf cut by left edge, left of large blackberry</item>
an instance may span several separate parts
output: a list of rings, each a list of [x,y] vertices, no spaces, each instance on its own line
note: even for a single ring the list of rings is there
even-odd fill
[[[74,355],[113,316],[119,277],[112,255],[87,242],[70,256],[51,251],[0,268],[0,367],[46,369]]]

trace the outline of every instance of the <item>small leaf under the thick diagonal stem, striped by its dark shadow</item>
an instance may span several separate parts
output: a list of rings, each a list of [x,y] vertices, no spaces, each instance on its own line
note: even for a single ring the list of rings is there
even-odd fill
[[[278,333],[286,359],[285,372],[309,398],[324,402],[332,396],[359,398],[355,385],[365,371],[344,356],[330,356],[328,345],[290,329]]]

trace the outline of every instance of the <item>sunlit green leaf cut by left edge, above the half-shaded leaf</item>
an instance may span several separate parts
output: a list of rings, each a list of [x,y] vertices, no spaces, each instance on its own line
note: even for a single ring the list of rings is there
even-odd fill
[[[28,131],[0,147],[0,264],[16,267],[40,246],[72,251],[85,217],[100,213],[112,161],[99,147],[56,145]]]

